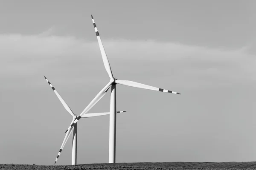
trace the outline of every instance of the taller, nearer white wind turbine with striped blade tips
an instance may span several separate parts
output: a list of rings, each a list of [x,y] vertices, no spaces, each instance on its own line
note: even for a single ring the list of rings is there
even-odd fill
[[[127,86],[131,86],[131,87],[136,87],[136,88],[144,88],[144,89],[153,90],[153,91],[161,91],[161,92],[172,93],[172,94],[180,94],[180,93],[165,90],[163,88],[156,88],[156,87],[153,87],[153,86],[144,85],[144,84],[141,84],[141,83],[138,83],[138,82],[132,82],[132,81],[128,81],[128,80],[119,80],[119,79],[114,78],[113,74],[112,74],[112,71],[111,71],[110,64],[108,62],[107,54],[106,54],[105,49],[103,47],[102,40],[99,37],[99,31],[96,27],[93,16],[92,16],[92,20],[93,20],[93,26],[94,26],[94,29],[95,29],[95,32],[96,32],[96,37],[97,37],[98,42],[99,42],[99,49],[100,49],[100,52],[102,54],[103,63],[104,63],[106,71],[108,72],[110,82],[108,82],[108,84],[99,92],[99,94],[97,94],[95,96],[95,98],[84,109],[84,111],[82,111],[82,113],[75,119],[75,121],[70,125],[70,127],[68,127],[66,132],[68,130],[70,130],[74,125],[76,125],[76,122],[78,122],[79,119],[81,119],[81,117],[85,113],[87,113],[87,111],[89,111],[90,108],[92,108],[93,105],[95,105],[106,94],[106,92],[108,91],[108,89],[111,86],[108,162],[109,163],[115,163],[116,162],[116,84],[127,85]]]

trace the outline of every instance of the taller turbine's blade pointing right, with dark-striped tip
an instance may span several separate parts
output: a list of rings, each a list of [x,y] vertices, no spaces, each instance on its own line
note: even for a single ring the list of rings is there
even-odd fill
[[[128,81],[128,80],[119,80],[119,79],[117,79],[116,83],[121,84],[121,85],[128,85],[128,86],[135,87],[135,88],[145,88],[145,89],[148,89],[148,90],[162,91],[162,92],[172,93],[172,94],[180,94],[180,93],[177,93],[175,91],[169,91],[169,90],[165,90],[165,89],[162,89],[162,88],[155,88],[155,87],[150,86],[150,85],[144,85],[144,84],[141,84],[141,83],[138,83],[138,82],[132,82],[132,81]]]

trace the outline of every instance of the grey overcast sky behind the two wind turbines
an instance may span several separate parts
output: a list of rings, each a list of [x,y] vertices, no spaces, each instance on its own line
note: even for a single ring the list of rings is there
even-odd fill
[[[116,162],[255,161],[256,2],[0,0],[0,164],[53,164],[113,75]],[[90,111],[107,112],[110,92]],[[78,164],[108,162],[109,116],[78,122]],[[71,164],[71,136],[57,164]]]

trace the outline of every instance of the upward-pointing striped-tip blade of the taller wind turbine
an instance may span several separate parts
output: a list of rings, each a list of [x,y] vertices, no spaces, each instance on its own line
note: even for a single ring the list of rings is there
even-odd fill
[[[105,69],[108,72],[109,78],[113,78],[113,74],[112,74],[111,67],[110,67],[110,64],[109,64],[109,61],[108,61],[108,57],[107,57],[107,54],[106,54],[105,49],[103,47],[102,40],[99,37],[99,31],[98,31],[98,29],[96,27],[96,24],[94,22],[93,15],[92,15],[92,20],[93,20],[93,26],[94,26],[94,29],[95,29],[95,32],[96,32],[96,36],[97,36],[97,39],[98,39],[98,42],[99,42],[99,49],[100,49],[100,52],[102,54],[102,59],[103,59]]]

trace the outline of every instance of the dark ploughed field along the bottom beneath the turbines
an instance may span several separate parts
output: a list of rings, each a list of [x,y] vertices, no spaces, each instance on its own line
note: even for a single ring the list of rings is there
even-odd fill
[[[256,162],[139,162],[79,165],[0,164],[0,170],[225,170],[256,169]]]

